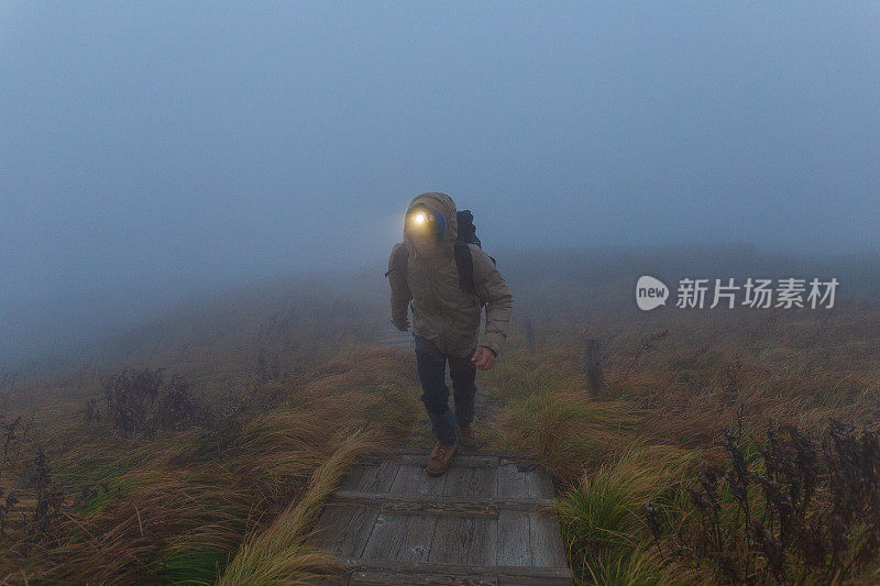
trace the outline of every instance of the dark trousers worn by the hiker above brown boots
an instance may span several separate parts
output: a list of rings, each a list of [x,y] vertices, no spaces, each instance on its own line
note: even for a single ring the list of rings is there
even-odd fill
[[[455,424],[470,425],[474,420],[474,396],[476,395],[476,366],[471,362],[476,347],[461,358],[448,356],[437,350],[431,342],[420,335],[416,339],[416,364],[421,382],[421,401],[431,419],[437,440],[451,445],[459,439]],[[449,410],[449,387],[447,387],[447,362],[452,377],[452,391],[455,397],[455,413]]]

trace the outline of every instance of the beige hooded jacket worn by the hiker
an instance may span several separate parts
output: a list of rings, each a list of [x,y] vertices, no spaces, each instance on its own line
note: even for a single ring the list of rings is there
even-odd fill
[[[431,341],[440,352],[450,356],[466,356],[477,345],[481,308],[477,296],[463,291],[459,284],[454,243],[458,235],[455,202],[446,194],[421,194],[409,203],[428,206],[443,215],[446,230],[440,254],[425,258],[418,254],[404,226],[404,242],[392,248],[388,259],[388,281],[392,287],[392,322],[400,330],[408,327],[407,308],[413,301],[413,331]],[[394,269],[397,248],[409,253],[407,274]],[[474,263],[474,285],[486,300],[486,328],[482,346],[497,356],[507,338],[513,297],[495,264],[480,246],[469,244]]]

